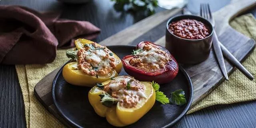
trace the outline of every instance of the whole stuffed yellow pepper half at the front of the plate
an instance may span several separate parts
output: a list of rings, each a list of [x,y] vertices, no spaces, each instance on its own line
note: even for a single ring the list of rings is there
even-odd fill
[[[154,105],[155,90],[151,82],[140,82],[130,76],[117,76],[96,84],[89,94],[95,112],[113,126],[138,121]]]

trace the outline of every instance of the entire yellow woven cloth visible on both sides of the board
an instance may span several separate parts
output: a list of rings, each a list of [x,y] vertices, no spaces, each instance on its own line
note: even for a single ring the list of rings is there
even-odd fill
[[[231,22],[231,26],[256,39],[256,20],[251,14],[240,16]],[[69,59],[64,56],[66,50],[57,50],[57,56],[51,64],[16,65],[20,87],[22,90],[27,128],[60,128],[64,127],[50,112],[48,112],[34,96],[34,86],[44,76],[60,67]],[[243,63],[253,73],[256,73],[256,52],[253,52]],[[206,98],[188,111],[188,114],[216,104],[231,104],[256,100],[256,82],[248,80],[236,70],[229,81],[223,82]]]

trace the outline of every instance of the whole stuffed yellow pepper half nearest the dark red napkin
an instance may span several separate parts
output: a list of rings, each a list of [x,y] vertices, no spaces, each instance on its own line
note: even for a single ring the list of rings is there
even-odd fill
[[[76,49],[67,51],[66,55],[75,62],[63,67],[64,79],[73,85],[92,87],[118,76],[122,62],[106,46],[101,46],[86,39],[75,41]]]

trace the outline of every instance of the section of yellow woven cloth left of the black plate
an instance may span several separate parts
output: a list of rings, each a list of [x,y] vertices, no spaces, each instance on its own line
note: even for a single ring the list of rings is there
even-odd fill
[[[60,123],[44,106],[36,99],[34,87],[44,76],[66,63],[69,58],[67,50],[57,50],[56,59],[51,64],[27,64],[16,65],[16,71],[20,82],[20,88],[25,104],[25,116],[27,128],[62,128]]]

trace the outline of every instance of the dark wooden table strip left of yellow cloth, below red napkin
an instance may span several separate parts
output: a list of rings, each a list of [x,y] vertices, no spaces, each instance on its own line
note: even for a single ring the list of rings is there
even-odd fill
[[[15,67],[1,65],[0,71],[0,128],[24,128],[25,110],[18,76],[8,73],[16,72]]]

